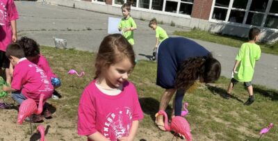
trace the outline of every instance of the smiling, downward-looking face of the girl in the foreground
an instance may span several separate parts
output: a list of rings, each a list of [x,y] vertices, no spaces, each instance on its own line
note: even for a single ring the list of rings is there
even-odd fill
[[[128,58],[106,67],[105,80],[110,88],[119,88],[129,78],[133,65]]]

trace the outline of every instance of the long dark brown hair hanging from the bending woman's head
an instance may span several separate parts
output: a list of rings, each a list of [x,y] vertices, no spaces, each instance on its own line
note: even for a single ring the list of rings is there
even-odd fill
[[[208,56],[200,56],[184,60],[177,72],[175,88],[188,89],[201,76],[204,83],[217,81],[220,77],[221,65],[213,58],[211,53]]]

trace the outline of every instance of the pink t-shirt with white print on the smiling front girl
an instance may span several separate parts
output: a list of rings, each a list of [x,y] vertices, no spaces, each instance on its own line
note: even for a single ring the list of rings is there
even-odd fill
[[[92,81],[79,101],[78,134],[91,135],[98,131],[111,141],[129,135],[131,124],[144,117],[136,88],[126,81],[120,94],[101,92]]]

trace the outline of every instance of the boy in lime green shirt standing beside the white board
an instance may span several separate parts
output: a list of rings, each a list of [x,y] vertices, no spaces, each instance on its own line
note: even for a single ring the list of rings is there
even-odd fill
[[[118,29],[119,31],[122,31],[124,38],[126,38],[131,45],[134,45],[133,31],[136,30],[137,26],[131,15],[129,15],[130,11],[130,4],[124,3],[122,5],[122,15],[124,18],[121,19]]]

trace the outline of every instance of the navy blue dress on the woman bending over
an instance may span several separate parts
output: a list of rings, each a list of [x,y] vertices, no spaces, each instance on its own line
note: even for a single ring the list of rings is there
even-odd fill
[[[156,85],[174,88],[174,80],[184,60],[208,56],[209,51],[187,38],[167,38],[158,48]]]

